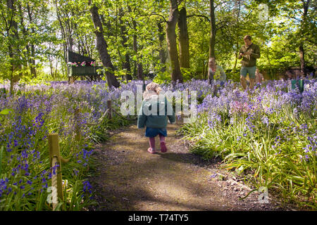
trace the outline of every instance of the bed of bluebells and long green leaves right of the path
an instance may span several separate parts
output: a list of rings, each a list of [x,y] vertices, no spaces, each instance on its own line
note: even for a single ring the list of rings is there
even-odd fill
[[[256,89],[243,101],[228,99],[229,103],[225,103],[228,88],[212,98],[218,103],[206,107],[196,122],[178,130],[189,141],[190,151],[206,160],[220,158],[224,168],[256,189],[266,187],[287,203],[316,210],[316,114],[300,109],[304,100],[302,104],[298,100],[286,101],[278,106],[279,110],[275,108],[273,105],[278,104],[274,102],[281,101],[281,93],[284,97],[295,94],[287,94],[287,89],[281,87],[266,94],[265,88],[262,92]],[[316,93],[313,89],[306,91]],[[237,93],[237,89],[228,91],[233,92]],[[211,101],[211,96],[206,98]],[[210,103],[206,98],[201,107]],[[258,103],[260,106],[256,106]],[[243,111],[248,104],[253,105],[253,110]],[[271,113],[262,107],[271,107]]]

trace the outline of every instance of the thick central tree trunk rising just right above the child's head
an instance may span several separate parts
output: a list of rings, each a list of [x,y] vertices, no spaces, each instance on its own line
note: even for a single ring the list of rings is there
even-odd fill
[[[178,61],[178,49],[176,45],[175,27],[178,23],[178,1],[170,0],[170,15],[166,24],[166,41],[168,45],[168,53],[170,55],[170,65],[172,67],[172,81],[179,80],[182,82],[182,73],[180,72],[180,63]]]

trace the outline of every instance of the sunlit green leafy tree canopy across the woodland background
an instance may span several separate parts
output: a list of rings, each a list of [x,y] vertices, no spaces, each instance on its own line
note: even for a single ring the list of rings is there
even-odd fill
[[[162,77],[162,71],[170,72],[165,34],[168,1],[92,3],[99,8],[108,52],[120,79],[125,77],[120,72],[123,70],[137,77],[138,64],[142,65],[143,74],[154,73]],[[182,1],[179,6],[187,10],[189,34],[190,72],[182,71],[185,80],[206,79],[210,33],[208,4],[206,1]],[[299,66],[301,43],[304,43],[306,65],[316,65],[316,11],[312,3],[305,18],[302,17],[303,4],[294,1],[272,4],[272,1],[216,0],[214,4],[216,58],[225,70],[239,70],[240,60],[236,54],[245,34],[254,37],[254,43],[261,47],[258,66],[268,77],[277,78],[278,73],[286,68]],[[263,11],[263,6],[267,11]],[[27,8],[31,8],[30,13]],[[86,1],[57,0],[51,4],[32,1],[30,4],[19,0],[15,13],[7,9],[4,1],[0,8],[3,14],[0,20],[3,30],[0,35],[0,74],[3,80],[66,79],[66,49],[100,60],[94,46],[94,25]],[[12,26],[8,27],[11,19],[18,25],[17,32]],[[163,27],[163,33],[159,32],[158,24]],[[159,39],[160,34],[163,34],[163,41]],[[21,51],[8,55],[10,48]],[[127,60],[130,71],[124,68]],[[168,79],[164,77],[162,80]]]

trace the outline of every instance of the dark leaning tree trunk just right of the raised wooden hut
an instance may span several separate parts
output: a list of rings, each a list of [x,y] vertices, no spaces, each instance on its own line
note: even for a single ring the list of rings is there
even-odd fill
[[[89,1],[89,5],[91,1]],[[116,79],[116,76],[113,75],[113,64],[111,63],[111,58],[108,53],[108,46],[106,44],[106,40],[104,39],[104,30],[102,28],[101,20],[98,13],[97,6],[92,6],[89,9],[92,15],[92,22],[94,23],[94,33],[96,34],[97,39],[97,50],[99,52],[99,56],[101,58],[102,63],[106,67],[106,78],[108,82],[108,86],[119,86],[119,82]]]

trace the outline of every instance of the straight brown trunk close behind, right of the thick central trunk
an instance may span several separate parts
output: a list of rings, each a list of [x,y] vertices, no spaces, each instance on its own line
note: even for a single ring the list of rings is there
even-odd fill
[[[180,10],[178,18],[178,34],[180,39],[180,67],[189,68],[189,38],[187,32],[187,13],[186,8]]]

